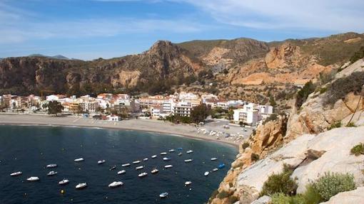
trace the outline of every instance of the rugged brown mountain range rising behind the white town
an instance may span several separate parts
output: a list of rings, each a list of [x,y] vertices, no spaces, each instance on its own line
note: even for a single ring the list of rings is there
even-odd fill
[[[270,97],[286,101],[295,86],[338,70],[363,46],[363,34],[343,33],[269,43],[250,38],[158,41],[138,55],[108,60],[58,55],[5,58],[0,63],[0,93],[50,89],[69,94],[105,90],[155,94],[183,89],[265,104]]]

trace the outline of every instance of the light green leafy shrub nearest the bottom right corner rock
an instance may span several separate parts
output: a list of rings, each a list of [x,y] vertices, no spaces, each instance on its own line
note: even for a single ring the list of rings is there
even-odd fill
[[[340,192],[354,190],[355,182],[351,174],[325,172],[324,176],[312,183],[312,186],[320,193],[323,200],[327,201]]]

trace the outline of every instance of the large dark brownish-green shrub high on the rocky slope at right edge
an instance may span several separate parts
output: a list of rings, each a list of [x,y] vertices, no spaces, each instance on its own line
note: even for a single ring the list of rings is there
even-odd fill
[[[327,97],[324,100],[324,104],[333,105],[340,99],[345,98],[350,92],[359,94],[361,87],[364,85],[364,72],[352,73],[348,77],[343,77],[335,80],[330,87],[328,87]]]

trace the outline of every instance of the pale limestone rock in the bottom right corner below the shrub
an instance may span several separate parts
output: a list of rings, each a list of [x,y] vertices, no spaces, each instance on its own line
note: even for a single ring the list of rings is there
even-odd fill
[[[364,187],[358,187],[355,190],[338,193],[330,198],[327,202],[320,204],[351,204],[364,202]]]

